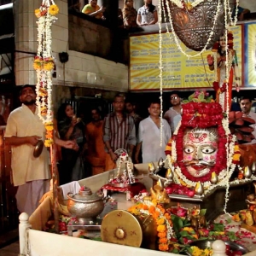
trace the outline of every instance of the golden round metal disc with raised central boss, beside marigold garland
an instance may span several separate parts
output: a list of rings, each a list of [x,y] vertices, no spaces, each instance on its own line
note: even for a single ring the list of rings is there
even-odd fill
[[[102,241],[140,247],[143,241],[143,230],[137,218],[130,212],[114,210],[103,218],[101,236]]]

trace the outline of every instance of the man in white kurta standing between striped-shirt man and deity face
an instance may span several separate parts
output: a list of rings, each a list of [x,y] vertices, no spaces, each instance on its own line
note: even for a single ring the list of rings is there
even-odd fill
[[[162,119],[162,145],[160,146],[160,103],[152,102],[148,108],[149,116],[140,122],[137,135],[135,161],[138,162],[138,153],[142,147],[143,163],[155,162],[160,157],[165,159],[165,149],[171,137],[170,125]]]

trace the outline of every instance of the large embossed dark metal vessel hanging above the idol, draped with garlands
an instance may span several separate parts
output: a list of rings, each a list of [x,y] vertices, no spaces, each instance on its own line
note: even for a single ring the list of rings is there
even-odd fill
[[[193,1],[192,1],[193,2]],[[172,24],[177,37],[189,49],[201,51],[207,44],[207,40],[212,32],[214,16],[216,15],[218,0],[207,0],[198,4],[195,8],[180,9],[176,4],[169,2]],[[230,0],[230,8],[233,9],[234,0]],[[213,29],[212,39],[207,45],[207,49],[218,41],[224,32],[224,0],[221,0],[220,11],[217,22]]]

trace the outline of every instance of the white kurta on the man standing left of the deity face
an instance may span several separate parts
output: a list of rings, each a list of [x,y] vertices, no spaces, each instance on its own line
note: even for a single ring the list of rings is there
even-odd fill
[[[154,124],[150,116],[140,122],[137,143],[142,144],[143,163],[154,162],[160,160],[160,157],[165,159],[165,149],[171,137],[170,125],[166,119],[163,121],[163,136],[162,146],[160,147],[160,128]]]

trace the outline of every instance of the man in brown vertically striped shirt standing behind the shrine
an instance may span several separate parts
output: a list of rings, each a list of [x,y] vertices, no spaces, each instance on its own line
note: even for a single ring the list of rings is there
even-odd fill
[[[132,117],[125,113],[125,97],[118,94],[113,100],[113,113],[109,113],[103,124],[103,141],[107,150],[105,171],[116,167],[118,156],[115,150],[123,148],[132,156],[136,145],[136,131]]]

